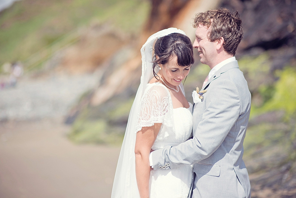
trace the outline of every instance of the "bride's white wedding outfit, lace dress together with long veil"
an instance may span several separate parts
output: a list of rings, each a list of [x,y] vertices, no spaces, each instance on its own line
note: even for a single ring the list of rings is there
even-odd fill
[[[170,92],[162,83],[149,84],[153,78],[152,59],[155,40],[171,33],[185,33],[177,28],[168,28],[151,35],[141,48],[141,83],[132,105],[125,136],[117,163],[111,198],[140,198],[135,174],[136,133],[142,127],[162,123],[153,150],[167,145],[178,145],[191,136],[192,105],[187,108],[173,108]],[[157,73],[159,68],[155,68]],[[182,84],[179,90],[184,89]],[[150,172],[150,198],[187,198],[191,182],[192,167],[159,169]]]

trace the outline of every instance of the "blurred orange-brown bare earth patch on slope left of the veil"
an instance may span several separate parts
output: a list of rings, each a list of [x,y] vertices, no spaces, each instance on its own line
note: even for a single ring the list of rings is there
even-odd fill
[[[71,74],[91,73],[110,58],[118,48],[126,45],[126,38],[107,24],[92,23],[81,31],[76,44],[64,50],[57,71]]]

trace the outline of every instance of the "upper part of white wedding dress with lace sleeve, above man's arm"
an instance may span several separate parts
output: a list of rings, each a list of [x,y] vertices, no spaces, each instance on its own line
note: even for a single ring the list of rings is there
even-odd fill
[[[183,92],[183,86],[180,86]],[[184,92],[183,92],[184,94]],[[171,94],[163,84],[155,82],[148,84],[141,99],[136,132],[142,127],[162,123],[155,139],[153,150],[164,146],[175,146],[186,141],[192,131],[192,104],[189,108],[173,109]]]

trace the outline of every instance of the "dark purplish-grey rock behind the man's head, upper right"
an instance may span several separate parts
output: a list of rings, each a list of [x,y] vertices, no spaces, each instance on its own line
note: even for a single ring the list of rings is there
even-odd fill
[[[282,69],[296,57],[296,1],[222,0],[221,7],[238,11],[243,21],[244,38],[237,55],[281,49],[271,53],[271,70]]]

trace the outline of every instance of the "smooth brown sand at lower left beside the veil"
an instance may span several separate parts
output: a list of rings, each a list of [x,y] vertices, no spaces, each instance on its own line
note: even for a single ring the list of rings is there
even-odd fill
[[[107,198],[119,147],[74,145],[56,120],[0,123],[1,198]]]

